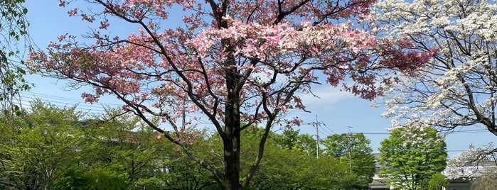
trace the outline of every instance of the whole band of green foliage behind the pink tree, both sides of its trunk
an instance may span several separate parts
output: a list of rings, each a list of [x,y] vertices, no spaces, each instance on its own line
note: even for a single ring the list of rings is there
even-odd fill
[[[212,172],[178,151],[175,144],[117,109],[83,118],[74,108],[36,101],[31,111],[5,117],[0,117],[0,164],[4,166],[0,167],[0,189],[223,187]],[[222,171],[218,135],[188,131],[199,134],[188,151]],[[240,168],[245,174],[257,156],[261,131],[242,132]],[[274,138],[267,140],[265,155],[248,189],[360,189],[357,184],[363,177],[349,172],[348,162],[309,154],[315,145],[310,135],[289,131],[270,136]],[[50,175],[46,175],[48,171]]]

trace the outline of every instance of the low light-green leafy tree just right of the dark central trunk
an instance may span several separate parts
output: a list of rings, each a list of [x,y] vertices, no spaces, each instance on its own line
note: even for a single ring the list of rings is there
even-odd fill
[[[255,189],[354,189],[359,178],[333,157],[313,157],[299,150],[267,145],[266,157],[252,179]]]

